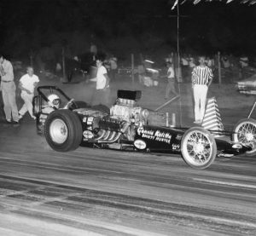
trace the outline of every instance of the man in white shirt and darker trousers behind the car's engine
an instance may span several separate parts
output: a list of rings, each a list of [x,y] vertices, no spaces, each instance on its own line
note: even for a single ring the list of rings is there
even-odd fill
[[[97,66],[97,73],[96,78],[90,78],[90,81],[96,82],[96,92],[93,96],[93,105],[96,104],[102,104],[109,106],[109,95],[110,95],[110,89],[109,89],[109,77],[108,72],[105,66],[103,66],[102,59],[96,60],[96,66]]]

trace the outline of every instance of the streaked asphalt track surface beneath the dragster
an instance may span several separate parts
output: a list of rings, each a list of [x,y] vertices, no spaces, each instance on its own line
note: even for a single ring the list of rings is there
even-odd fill
[[[256,235],[256,157],[52,151],[0,124],[0,235]]]

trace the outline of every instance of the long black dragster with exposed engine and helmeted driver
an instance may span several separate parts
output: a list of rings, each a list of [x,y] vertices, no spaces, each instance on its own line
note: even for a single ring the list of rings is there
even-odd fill
[[[44,135],[57,152],[84,146],[178,153],[196,169],[207,168],[218,155],[255,153],[254,121],[244,120],[235,128],[236,132],[223,131],[224,138],[201,127],[165,127],[156,124],[160,118],[157,112],[138,105],[141,96],[141,91],[118,90],[109,109],[70,99],[55,86],[38,87],[38,95],[33,98],[38,134]]]

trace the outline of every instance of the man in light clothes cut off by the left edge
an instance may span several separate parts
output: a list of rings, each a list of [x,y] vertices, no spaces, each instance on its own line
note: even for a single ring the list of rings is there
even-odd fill
[[[0,55],[0,75],[3,94],[3,110],[5,112],[5,118],[8,123],[12,122],[12,118],[15,124],[19,123],[19,113],[16,104],[16,85],[14,82],[14,69],[9,60],[6,60],[3,55]]]

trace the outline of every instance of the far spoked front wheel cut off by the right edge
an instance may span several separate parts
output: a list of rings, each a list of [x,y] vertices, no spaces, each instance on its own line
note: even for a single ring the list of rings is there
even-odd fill
[[[256,121],[253,118],[243,118],[234,127],[233,141],[240,142],[245,146],[252,147],[248,156],[256,153]]]

